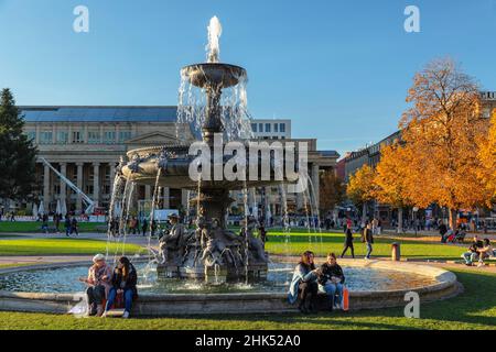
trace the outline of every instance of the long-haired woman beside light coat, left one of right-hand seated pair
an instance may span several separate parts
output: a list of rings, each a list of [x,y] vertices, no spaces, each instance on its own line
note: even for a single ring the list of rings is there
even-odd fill
[[[296,302],[300,294],[298,309],[303,314],[314,310],[314,302],[319,292],[319,284],[316,282],[319,271],[315,268],[313,261],[314,254],[310,251],[306,251],[301,255],[301,261],[294,270],[288,295],[289,302],[293,305]]]

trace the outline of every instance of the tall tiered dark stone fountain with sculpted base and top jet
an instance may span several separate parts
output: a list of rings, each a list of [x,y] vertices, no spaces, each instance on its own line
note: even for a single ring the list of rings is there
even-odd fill
[[[215,20],[213,24],[219,28]],[[247,77],[244,68],[218,63],[219,34],[209,35],[217,45],[211,43],[208,63],[182,69],[182,77],[206,95],[206,107],[203,109],[205,116],[201,119],[202,138],[211,148],[212,175],[219,163],[224,169],[228,161],[225,157],[220,161],[214,157],[214,139],[225,130],[222,111],[229,109],[220,106],[223,89],[237,86]],[[182,234],[171,233],[163,238],[160,248],[165,254],[159,258],[159,274],[166,277],[215,277],[217,282],[266,277],[269,258],[263,251],[263,243],[254,237],[256,220],[247,219],[245,229],[238,235],[227,229],[225,219],[227,208],[234,201],[229,197],[230,190],[281,184],[280,180],[274,180],[274,162],[270,163],[270,180],[262,182],[259,180],[260,177],[257,177],[257,180],[248,180],[248,175],[246,180],[195,180],[190,177],[190,165],[196,156],[190,155],[188,148],[190,144],[179,143],[130,151],[130,161],[120,167],[121,176],[136,184],[198,193],[198,198],[192,199],[192,204],[198,208],[196,230]],[[247,165],[246,170],[248,169]]]

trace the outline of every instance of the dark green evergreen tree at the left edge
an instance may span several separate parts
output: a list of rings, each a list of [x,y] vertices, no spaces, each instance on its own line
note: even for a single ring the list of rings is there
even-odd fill
[[[0,97],[0,199],[30,200],[35,185],[36,147],[23,133],[24,120],[10,89]]]

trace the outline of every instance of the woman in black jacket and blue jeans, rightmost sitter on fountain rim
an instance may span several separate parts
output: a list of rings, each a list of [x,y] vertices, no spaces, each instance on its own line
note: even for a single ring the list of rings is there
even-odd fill
[[[341,309],[345,276],[343,268],[337,264],[336,254],[330,253],[327,255],[327,262],[322,264],[319,274],[319,289],[327,294],[330,298],[330,310],[333,310],[334,306]],[[336,295],[337,301],[335,301]]]

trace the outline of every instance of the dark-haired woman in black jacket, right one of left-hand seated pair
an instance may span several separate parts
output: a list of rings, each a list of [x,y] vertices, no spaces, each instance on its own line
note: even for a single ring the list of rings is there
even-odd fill
[[[134,265],[131,264],[127,256],[121,256],[117,262],[117,266],[114,270],[111,284],[112,287],[108,293],[107,305],[105,306],[104,318],[107,317],[107,312],[111,309],[117,295],[122,294],[125,301],[125,312],[122,318],[129,318],[131,314],[132,300],[138,298],[138,275]]]

